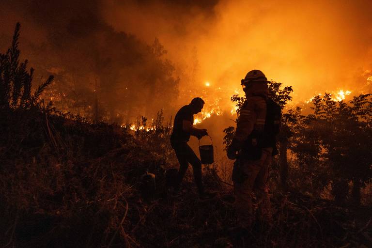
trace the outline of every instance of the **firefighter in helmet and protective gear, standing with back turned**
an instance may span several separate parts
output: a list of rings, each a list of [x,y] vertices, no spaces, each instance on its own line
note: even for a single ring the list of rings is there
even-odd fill
[[[268,168],[276,149],[281,109],[268,97],[268,83],[259,70],[248,72],[241,85],[245,101],[236,124],[236,133],[227,156],[236,159],[233,183],[236,211],[240,226],[250,228],[253,222],[252,196],[256,197],[261,217],[271,220],[271,206],[266,187]]]

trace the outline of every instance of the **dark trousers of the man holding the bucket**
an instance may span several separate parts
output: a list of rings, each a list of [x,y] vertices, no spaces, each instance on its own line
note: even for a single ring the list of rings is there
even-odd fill
[[[202,162],[195,155],[194,151],[187,144],[187,142],[171,141],[171,146],[174,149],[178,162],[180,163],[180,169],[178,170],[177,179],[175,183],[175,190],[178,190],[181,186],[182,180],[186,174],[188,163],[191,164],[194,173],[194,181],[198,187],[200,195],[204,194],[204,187],[202,181]]]

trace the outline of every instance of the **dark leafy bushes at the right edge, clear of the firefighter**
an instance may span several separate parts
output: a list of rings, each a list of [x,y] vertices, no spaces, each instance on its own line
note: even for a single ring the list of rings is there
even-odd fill
[[[291,149],[302,172],[317,190],[332,183],[339,202],[346,200],[347,182],[352,181],[353,201],[360,204],[360,187],[372,176],[371,94],[354,96],[346,104],[325,93],[315,96],[312,105],[313,113],[295,117]]]

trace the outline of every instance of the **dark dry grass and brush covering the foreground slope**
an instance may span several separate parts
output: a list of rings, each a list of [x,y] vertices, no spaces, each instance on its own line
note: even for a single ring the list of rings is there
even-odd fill
[[[61,116],[48,117],[50,133],[45,132],[43,116],[34,118],[33,126],[16,122],[16,113],[8,113],[6,120],[13,124],[6,130],[14,135],[6,136],[11,148],[6,140],[0,145],[4,247],[372,245],[371,208],[346,208],[279,192],[271,192],[273,222],[257,218],[243,239],[232,231],[236,227],[232,187],[221,183],[231,183],[230,162],[204,167],[206,187],[218,192],[213,200],[198,200],[191,169],[181,194],[167,194],[165,171],[177,163],[166,128],[138,133],[136,138],[115,125]],[[25,139],[28,142],[20,141]],[[140,176],[145,171],[156,176],[153,201],[141,196]]]

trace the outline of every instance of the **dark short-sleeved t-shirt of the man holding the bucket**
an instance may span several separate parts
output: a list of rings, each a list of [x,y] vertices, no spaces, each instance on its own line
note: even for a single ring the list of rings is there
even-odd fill
[[[178,110],[176,116],[174,117],[173,132],[171,135],[172,141],[188,141],[190,140],[190,133],[182,130],[183,120],[194,123],[194,115],[191,112],[191,107],[186,105]]]

